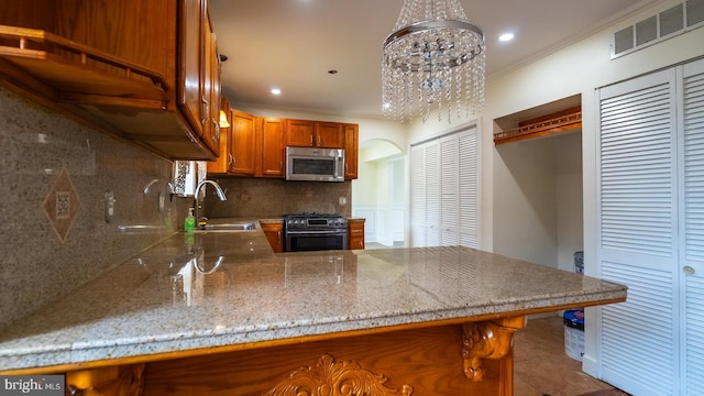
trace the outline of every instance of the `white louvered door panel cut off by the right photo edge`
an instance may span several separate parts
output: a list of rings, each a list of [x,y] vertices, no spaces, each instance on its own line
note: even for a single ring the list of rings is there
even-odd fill
[[[681,278],[685,395],[704,394],[704,61],[684,65]]]

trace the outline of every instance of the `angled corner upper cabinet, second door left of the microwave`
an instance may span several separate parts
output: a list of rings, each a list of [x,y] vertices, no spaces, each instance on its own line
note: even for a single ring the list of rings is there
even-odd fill
[[[232,111],[229,172],[235,175],[254,175],[256,117],[243,111]]]

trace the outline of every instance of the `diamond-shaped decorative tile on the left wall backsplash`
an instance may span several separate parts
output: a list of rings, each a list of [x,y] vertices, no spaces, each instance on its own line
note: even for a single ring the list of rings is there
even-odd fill
[[[43,207],[56,235],[64,243],[74,219],[80,210],[80,200],[66,168],[62,168],[44,199]]]

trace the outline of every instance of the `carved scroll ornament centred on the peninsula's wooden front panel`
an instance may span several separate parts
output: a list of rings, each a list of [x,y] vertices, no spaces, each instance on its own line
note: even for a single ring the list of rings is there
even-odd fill
[[[410,396],[414,388],[406,384],[399,389],[384,386],[388,378],[364,370],[360,364],[345,361],[337,363],[324,354],[316,366],[305,366],[294,371],[288,378],[274,386],[266,396],[364,396],[400,395]]]

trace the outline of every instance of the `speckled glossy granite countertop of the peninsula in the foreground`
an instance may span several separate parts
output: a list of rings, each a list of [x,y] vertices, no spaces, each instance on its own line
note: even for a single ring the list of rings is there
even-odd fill
[[[0,371],[595,305],[626,287],[468,248],[274,254],[176,233],[0,331]]]

